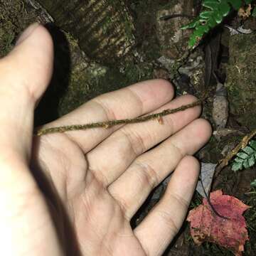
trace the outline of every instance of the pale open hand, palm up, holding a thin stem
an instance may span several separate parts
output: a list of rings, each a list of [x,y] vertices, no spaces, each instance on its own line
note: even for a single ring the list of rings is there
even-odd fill
[[[166,116],[164,124],[33,137],[52,66],[53,42],[38,24],[0,60],[1,255],[161,255],[193,196],[193,154],[211,134],[201,107]],[[100,95],[45,127],[132,118],[194,100],[174,99],[169,82],[149,80]],[[163,198],[132,230],[134,213],[171,173]]]

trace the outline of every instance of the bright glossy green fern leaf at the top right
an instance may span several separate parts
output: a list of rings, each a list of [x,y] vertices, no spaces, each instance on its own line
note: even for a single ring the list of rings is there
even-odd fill
[[[245,0],[245,4],[250,4],[253,0]],[[208,33],[210,28],[214,28],[223,21],[233,9],[240,9],[242,0],[203,0],[204,10],[191,23],[183,26],[181,29],[194,28],[193,34],[188,42],[189,48],[195,48],[204,34]]]

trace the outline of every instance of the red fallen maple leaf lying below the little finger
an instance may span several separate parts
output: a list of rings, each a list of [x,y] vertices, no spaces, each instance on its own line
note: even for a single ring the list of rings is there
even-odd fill
[[[217,213],[228,219],[220,218],[213,213],[207,200],[190,210],[187,220],[191,222],[191,235],[197,245],[202,242],[215,242],[228,248],[240,256],[244,250],[245,241],[249,240],[245,218],[242,213],[250,208],[233,196],[223,195],[218,190],[210,193],[210,203]]]

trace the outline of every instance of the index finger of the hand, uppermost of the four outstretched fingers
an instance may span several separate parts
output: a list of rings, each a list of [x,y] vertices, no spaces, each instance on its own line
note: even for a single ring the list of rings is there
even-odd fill
[[[73,112],[44,125],[43,128],[139,117],[156,110],[173,97],[174,88],[166,80],[138,82],[121,90],[95,97]],[[71,131],[65,132],[65,134],[68,134],[68,137],[79,144],[84,153],[87,153],[119,127]],[[55,134],[49,136],[55,136]]]

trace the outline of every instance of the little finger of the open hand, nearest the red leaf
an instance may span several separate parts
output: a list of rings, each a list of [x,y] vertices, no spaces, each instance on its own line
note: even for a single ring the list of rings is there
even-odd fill
[[[199,164],[185,156],[176,167],[164,197],[134,230],[146,255],[162,255],[186,217],[198,181]]]

